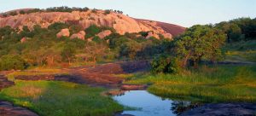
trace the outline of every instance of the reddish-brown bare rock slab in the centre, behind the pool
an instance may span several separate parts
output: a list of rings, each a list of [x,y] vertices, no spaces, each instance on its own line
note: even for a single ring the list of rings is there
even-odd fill
[[[122,84],[125,78],[117,75],[127,73],[137,73],[148,70],[148,61],[125,61],[115,62],[96,67],[73,67],[63,69],[67,74],[45,74],[35,76],[16,76],[15,79],[20,80],[57,80],[67,81],[76,84],[89,84],[90,86],[102,86],[107,88],[124,88],[129,90],[130,84]],[[131,85],[131,90],[136,87],[141,90],[142,85]]]

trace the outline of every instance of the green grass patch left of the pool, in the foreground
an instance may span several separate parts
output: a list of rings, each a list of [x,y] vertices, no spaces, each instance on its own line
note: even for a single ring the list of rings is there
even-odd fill
[[[105,89],[57,81],[21,81],[0,92],[0,99],[28,107],[42,116],[108,116],[124,107]]]

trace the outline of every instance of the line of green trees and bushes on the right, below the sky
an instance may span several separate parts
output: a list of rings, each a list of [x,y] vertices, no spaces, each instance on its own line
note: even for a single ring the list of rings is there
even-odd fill
[[[177,73],[197,68],[201,61],[212,63],[224,59],[225,44],[256,40],[256,19],[239,18],[215,25],[196,25],[174,38],[168,53],[152,61],[153,73]]]

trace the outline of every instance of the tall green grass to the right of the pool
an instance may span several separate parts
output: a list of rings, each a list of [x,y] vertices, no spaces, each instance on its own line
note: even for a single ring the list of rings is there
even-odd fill
[[[179,74],[139,73],[125,83],[152,84],[148,91],[193,102],[256,102],[256,66],[201,67]]]

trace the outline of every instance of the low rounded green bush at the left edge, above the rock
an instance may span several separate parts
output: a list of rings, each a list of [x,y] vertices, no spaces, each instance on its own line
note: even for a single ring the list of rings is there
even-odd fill
[[[0,70],[23,70],[27,67],[20,55],[3,55],[0,59]]]

